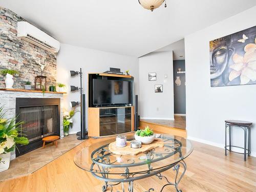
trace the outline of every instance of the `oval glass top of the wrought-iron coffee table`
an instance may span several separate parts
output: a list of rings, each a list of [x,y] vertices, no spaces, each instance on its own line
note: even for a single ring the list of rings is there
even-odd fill
[[[134,135],[126,135],[127,140],[135,140]],[[156,134],[164,142],[163,147],[157,147],[136,156],[116,155],[110,152],[109,144],[115,138],[97,139],[87,147],[82,148],[75,156],[75,164],[88,172],[125,174],[142,173],[148,170],[163,168],[186,158],[193,151],[191,142],[183,137],[166,134]]]

